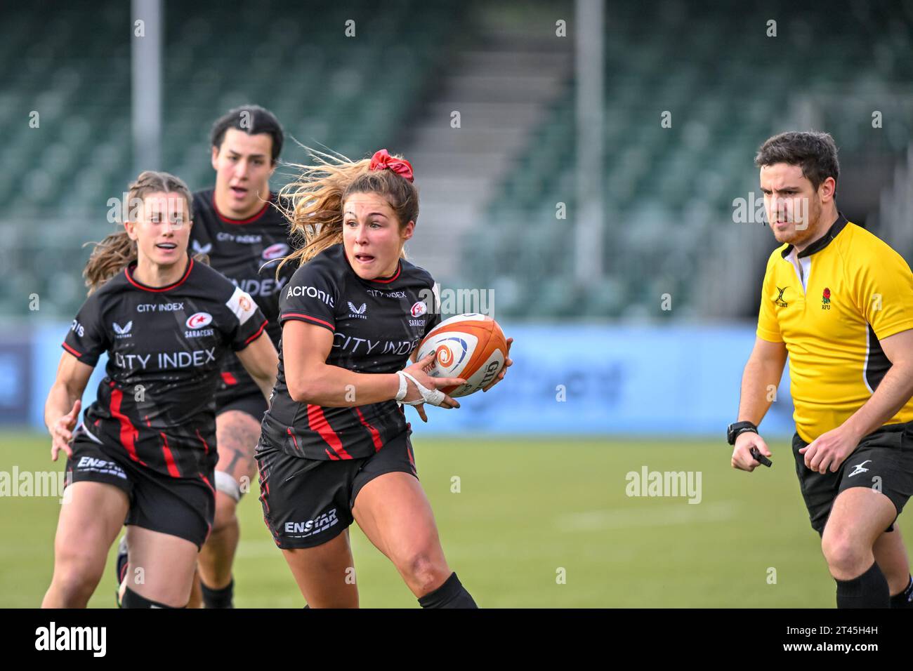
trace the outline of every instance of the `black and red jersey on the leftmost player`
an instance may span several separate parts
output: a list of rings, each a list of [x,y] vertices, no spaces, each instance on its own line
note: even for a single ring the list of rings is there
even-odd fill
[[[224,355],[255,341],[267,320],[247,292],[192,258],[167,287],[143,285],[135,267],[89,296],[63,342],[90,366],[108,352],[84,429],[142,466],[198,477],[218,458],[215,389]]]

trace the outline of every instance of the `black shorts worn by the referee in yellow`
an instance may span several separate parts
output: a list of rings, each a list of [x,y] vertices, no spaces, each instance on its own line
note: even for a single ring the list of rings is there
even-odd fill
[[[822,475],[806,467],[799,450],[807,445],[799,434],[792,436],[792,455],[805,508],[819,534],[824,534],[834,498],[845,489],[876,488],[891,500],[897,515],[913,496],[913,423],[882,426],[866,435],[836,473],[828,470]],[[893,529],[892,522],[887,530]]]

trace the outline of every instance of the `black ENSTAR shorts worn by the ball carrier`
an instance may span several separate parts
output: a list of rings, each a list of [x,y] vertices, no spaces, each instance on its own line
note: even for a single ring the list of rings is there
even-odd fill
[[[417,479],[411,433],[395,436],[372,456],[340,461],[288,455],[261,435],[255,453],[260,503],[276,545],[313,548],[339,536],[354,521],[358,493],[375,477],[408,473]]]

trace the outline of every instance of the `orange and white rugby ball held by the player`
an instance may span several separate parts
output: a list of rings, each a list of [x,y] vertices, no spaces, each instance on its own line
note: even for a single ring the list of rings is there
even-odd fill
[[[468,313],[442,321],[418,346],[416,361],[437,353],[432,377],[461,377],[466,384],[442,387],[456,398],[475,393],[501,372],[508,342],[498,322],[487,315]]]

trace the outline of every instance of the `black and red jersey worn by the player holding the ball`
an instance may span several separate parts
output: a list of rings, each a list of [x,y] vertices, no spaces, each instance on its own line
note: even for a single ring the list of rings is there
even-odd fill
[[[352,270],[342,245],[299,267],[282,289],[279,320],[301,320],[332,331],[327,363],[353,372],[402,370],[409,354],[440,322],[435,280],[400,259],[390,278],[365,280]],[[292,400],[279,347],[279,368],[269,410],[268,441],[289,455],[310,459],[371,456],[406,428],[395,401],[322,407]]]

